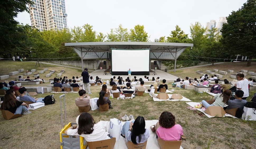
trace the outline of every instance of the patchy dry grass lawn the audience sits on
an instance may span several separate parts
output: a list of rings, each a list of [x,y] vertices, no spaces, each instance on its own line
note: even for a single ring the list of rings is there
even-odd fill
[[[231,69],[233,64],[237,65],[236,63],[229,63],[228,69]],[[32,69],[35,63],[0,61],[0,65],[2,66],[0,74],[3,75],[11,71],[17,71],[18,68]],[[49,68],[49,71],[55,69],[59,72],[65,69],[63,76],[67,74],[69,78],[80,76],[81,73],[80,70],[65,68],[64,66],[45,66]],[[207,66],[207,69],[198,67],[200,69],[193,68],[193,70],[188,69],[171,73],[182,78],[186,76],[192,77],[193,75],[199,78],[199,75],[192,73],[196,70],[213,70],[218,67],[217,65]],[[251,68],[256,70],[255,66],[248,67],[249,70]],[[40,71],[43,70],[43,67],[35,67],[35,69]],[[53,77],[56,77],[58,72],[55,72],[56,74]],[[43,75],[45,76],[45,74]],[[8,80],[10,81],[11,79]],[[41,84],[37,86],[41,86]],[[168,87],[173,89],[171,84],[168,84]],[[99,87],[91,87],[91,92],[91,98],[98,97]],[[207,93],[197,93],[185,89],[174,88],[174,93],[180,93],[193,102],[201,102],[201,100],[213,98],[213,96]],[[253,94],[254,91],[250,91],[250,96],[247,98],[248,101],[252,99]],[[35,97],[45,97],[46,95],[51,95],[51,93],[44,93]],[[0,116],[0,148],[60,148],[60,95],[61,93],[54,95],[55,104],[31,110],[31,114],[12,120],[4,120]],[[74,99],[77,97],[79,97],[78,93],[65,94],[67,123],[75,122],[75,118],[80,114],[74,102]],[[133,99],[117,100],[116,98],[111,98],[110,100],[112,102],[111,105],[114,107],[113,109],[107,112],[99,112],[99,110],[89,111],[96,122],[100,120],[109,121],[110,118],[121,120],[124,114],[132,114],[135,118],[137,116],[144,116],[145,120],[154,120],[158,119],[163,111],[170,111],[176,116],[176,123],[183,127],[183,133],[187,137],[187,140],[182,141],[183,148],[256,148],[256,121],[244,121],[229,117],[201,117],[198,114],[194,114],[192,110],[186,109],[188,105],[185,102],[154,102],[149,94],[146,93],[144,93],[143,97],[136,96]]]

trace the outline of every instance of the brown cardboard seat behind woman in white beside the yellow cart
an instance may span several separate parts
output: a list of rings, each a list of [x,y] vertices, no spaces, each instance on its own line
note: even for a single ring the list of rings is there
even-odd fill
[[[87,142],[90,149],[113,149],[116,143],[116,138],[111,138],[102,141]]]

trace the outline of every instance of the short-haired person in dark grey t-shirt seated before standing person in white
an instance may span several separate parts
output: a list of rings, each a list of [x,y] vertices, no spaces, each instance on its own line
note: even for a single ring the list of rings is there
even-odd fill
[[[235,99],[229,100],[227,102],[227,104],[229,105],[229,106],[227,106],[227,109],[244,107],[244,105],[247,103],[247,101],[242,99],[243,95],[244,95],[244,91],[242,91],[242,90],[235,91]]]

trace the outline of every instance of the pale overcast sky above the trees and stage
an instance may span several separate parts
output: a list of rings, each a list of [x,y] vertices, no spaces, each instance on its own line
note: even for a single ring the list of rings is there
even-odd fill
[[[68,14],[69,29],[74,26],[90,24],[96,33],[110,33],[110,29],[133,29],[135,25],[144,25],[144,30],[150,36],[149,40],[169,36],[175,26],[189,34],[189,26],[200,22],[204,27],[210,20],[227,17],[236,11],[246,0],[65,0]],[[27,12],[18,14],[16,20],[29,24],[30,15]]]

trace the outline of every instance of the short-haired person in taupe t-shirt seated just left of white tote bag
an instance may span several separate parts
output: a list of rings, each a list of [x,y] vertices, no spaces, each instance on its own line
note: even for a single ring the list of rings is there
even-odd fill
[[[88,94],[86,94],[86,91],[81,89],[78,92],[78,94],[79,94],[80,97],[75,99],[75,105],[77,105],[77,107],[86,107],[86,106],[90,105],[90,99],[91,98]]]

